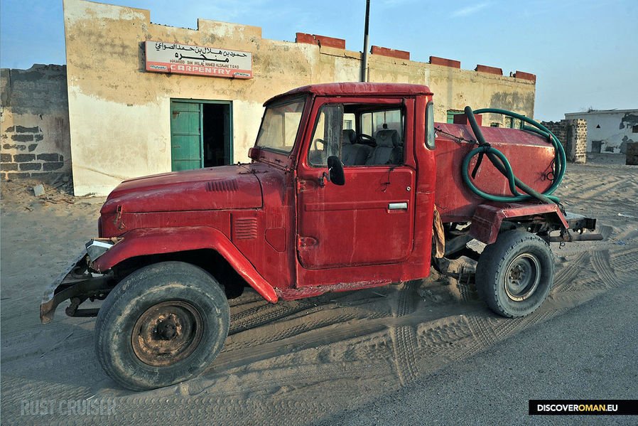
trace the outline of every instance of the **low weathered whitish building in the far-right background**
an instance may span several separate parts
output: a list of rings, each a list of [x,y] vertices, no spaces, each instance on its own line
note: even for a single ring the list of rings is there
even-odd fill
[[[570,112],[566,119],[587,121],[587,151],[627,153],[627,144],[638,142],[638,110]]]

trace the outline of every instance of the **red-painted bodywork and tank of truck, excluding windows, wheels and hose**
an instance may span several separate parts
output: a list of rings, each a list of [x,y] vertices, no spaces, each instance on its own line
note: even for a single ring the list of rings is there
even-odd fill
[[[269,102],[288,98],[306,100],[290,154],[252,149],[252,164],[121,183],[102,208],[99,228],[101,237],[124,239],[94,269],[103,272],[130,257],[210,249],[276,302],[427,277],[435,201],[444,222],[476,220],[472,232],[485,242],[512,214],[561,217],[556,206],[486,206],[470,193],[460,164],[474,146],[439,134],[436,150],[426,148],[425,111],[433,98],[426,86],[330,83],[299,87]],[[307,154],[320,107],[330,103],[403,108],[404,164],[346,167],[344,186],[321,186],[326,169],[310,166]],[[473,139],[465,124],[436,127]],[[512,159],[521,180],[539,191],[549,186],[544,180],[553,158],[549,144],[514,129],[483,132]],[[477,186],[508,193],[489,161],[481,166]],[[390,210],[389,203],[407,208]]]

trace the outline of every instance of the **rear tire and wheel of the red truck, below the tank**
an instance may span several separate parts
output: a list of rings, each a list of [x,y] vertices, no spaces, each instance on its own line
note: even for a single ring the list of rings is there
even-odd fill
[[[538,235],[509,230],[485,247],[476,268],[481,299],[499,315],[526,316],[544,302],[553,284],[551,249]]]

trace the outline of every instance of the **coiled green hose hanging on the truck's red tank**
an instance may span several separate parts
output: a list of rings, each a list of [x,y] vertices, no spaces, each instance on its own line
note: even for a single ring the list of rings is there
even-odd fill
[[[553,182],[544,193],[539,193],[538,191],[535,191],[533,188],[526,185],[526,183],[520,181],[514,175],[512,165],[509,164],[507,157],[504,156],[501,151],[494,147],[491,147],[490,144],[485,141],[485,137],[483,137],[481,129],[474,117],[475,114],[485,113],[506,115],[508,117],[517,118],[520,119],[522,122],[531,124],[531,127],[524,125],[522,129],[527,132],[534,132],[541,135],[542,137],[548,139],[548,142],[553,145],[554,151],[556,153],[553,161]],[[524,115],[519,115],[516,112],[500,110],[498,108],[483,108],[482,110],[472,111],[472,108],[465,107],[465,115],[467,116],[467,119],[470,122],[470,126],[472,127],[472,131],[474,132],[477,142],[479,143],[479,147],[472,149],[472,151],[467,153],[465,159],[463,159],[463,166],[461,169],[461,172],[463,174],[463,181],[473,193],[475,193],[477,196],[485,198],[488,201],[497,201],[499,203],[514,203],[517,201],[529,200],[531,198],[536,198],[543,203],[558,203],[558,197],[552,196],[551,194],[556,191],[558,186],[561,184],[561,181],[563,181],[567,159],[565,150],[563,149],[563,144],[561,144],[561,141],[558,140],[555,134],[553,134],[543,124],[540,124],[533,119],[525,117]],[[467,173],[467,169],[470,166],[472,157],[475,155],[486,155],[487,158],[492,161],[494,167],[496,167],[503,174],[503,176],[507,178],[507,181],[509,183],[509,191],[512,192],[512,196],[495,196],[490,193],[485,193],[477,188],[474,183],[472,183],[472,179],[470,179],[470,175]],[[526,194],[519,193],[519,191],[517,191],[517,188],[520,188]]]

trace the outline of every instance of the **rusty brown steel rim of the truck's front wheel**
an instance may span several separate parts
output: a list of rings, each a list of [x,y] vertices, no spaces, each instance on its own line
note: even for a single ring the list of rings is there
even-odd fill
[[[188,302],[155,304],[133,327],[133,351],[148,366],[171,366],[195,351],[202,340],[203,326],[202,315]]]

